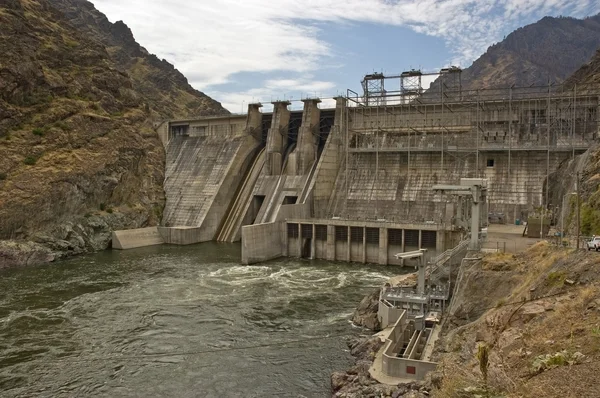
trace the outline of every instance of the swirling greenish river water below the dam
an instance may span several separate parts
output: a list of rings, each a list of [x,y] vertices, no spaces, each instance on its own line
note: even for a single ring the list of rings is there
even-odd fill
[[[0,396],[324,397],[393,267],[239,246],[107,251],[0,272]]]

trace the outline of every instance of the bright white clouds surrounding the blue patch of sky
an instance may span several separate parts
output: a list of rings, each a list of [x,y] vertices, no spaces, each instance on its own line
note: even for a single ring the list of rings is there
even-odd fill
[[[330,54],[335,48],[326,41],[321,30],[325,28],[318,27],[326,26],[323,23],[408,27],[442,38],[453,54],[452,63],[468,66],[502,39],[507,26],[550,13],[600,12],[597,0],[96,0],[95,4],[111,20],[124,20],[150,52],[167,58],[194,87],[208,89],[213,96],[216,85],[239,72],[294,75],[256,82],[262,94],[274,89],[333,89],[331,82],[306,78],[323,63],[334,62]]]

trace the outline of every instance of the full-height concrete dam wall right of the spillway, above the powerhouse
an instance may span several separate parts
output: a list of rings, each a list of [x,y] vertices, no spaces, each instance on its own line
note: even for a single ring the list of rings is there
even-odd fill
[[[586,150],[598,131],[588,111],[597,98],[579,99],[573,113],[568,99],[553,97],[548,105],[543,95],[527,95],[510,102],[508,96],[482,98],[479,107],[428,103],[385,112],[338,102],[333,133],[340,141],[326,146],[319,164],[315,216],[449,222],[455,207],[447,202],[456,199],[432,186],[480,177],[489,179],[489,211],[504,213],[509,222],[526,219],[544,204],[548,171]]]

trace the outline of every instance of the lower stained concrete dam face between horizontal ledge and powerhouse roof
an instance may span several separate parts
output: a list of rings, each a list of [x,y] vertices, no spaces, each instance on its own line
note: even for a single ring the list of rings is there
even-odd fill
[[[410,156],[410,159],[409,159]],[[550,154],[550,172],[571,156],[567,152]],[[487,167],[488,160],[493,167]],[[447,222],[449,201],[456,199],[436,193],[435,184],[458,184],[461,178],[480,176],[488,179],[488,209],[502,212],[512,222],[526,219],[534,207],[544,202],[543,184],[547,173],[544,152],[481,153],[446,156],[441,167],[439,153],[351,153],[348,170],[349,194],[346,200],[345,167],[339,166],[336,186],[328,205],[328,216],[389,221]],[[509,167],[510,163],[510,167]],[[379,173],[375,173],[376,170]],[[329,181],[321,175],[324,182]],[[317,182],[317,186],[319,183]],[[315,203],[316,205],[316,203]],[[323,209],[316,210],[316,213]]]

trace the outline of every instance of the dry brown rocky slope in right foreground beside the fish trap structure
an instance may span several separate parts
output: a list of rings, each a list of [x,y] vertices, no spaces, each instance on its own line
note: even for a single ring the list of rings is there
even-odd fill
[[[432,396],[600,396],[598,264],[595,252],[539,243],[465,267],[436,345],[442,379]]]

